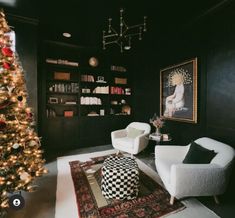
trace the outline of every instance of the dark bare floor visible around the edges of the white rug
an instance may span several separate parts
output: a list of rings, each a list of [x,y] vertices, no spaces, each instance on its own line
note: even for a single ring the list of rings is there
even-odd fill
[[[111,145],[81,148],[65,151],[52,151],[46,153],[46,167],[49,173],[37,180],[38,190],[34,193],[22,193],[25,198],[25,207],[21,210],[8,210],[8,218],[54,218],[55,215],[55,198],[56,198],[56,180],[57,165],[56,158],[59,156],[84,154],[95,151],[112,149]],[[153,148],[144,150],[137,155],[139,159],[144,161],[148,166],[155,169]],[[66,187],[65,187],[66,188]],[[235,217],[235,201],[225,195],[221,197],[221,203],[215,204],[212,197],[198,198],[204,205],[213,210],[222,218]],[[202,217],[204,218],[204,217]],[[205,217],[206,218],[206,217]]]

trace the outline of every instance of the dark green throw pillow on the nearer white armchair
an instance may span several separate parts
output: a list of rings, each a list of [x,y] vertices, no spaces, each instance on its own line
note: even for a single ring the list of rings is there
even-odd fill
[[[208,150],[196,142],[192,142],[183,163],[207,164],[211,162],[216,154],[214,150]]]

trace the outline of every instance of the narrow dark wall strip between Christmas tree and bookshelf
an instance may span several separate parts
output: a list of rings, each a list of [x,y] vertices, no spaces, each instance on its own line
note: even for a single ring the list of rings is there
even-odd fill
[[[24,77],[29,95],[27,103],[33,109],[35,122],[37,123],[37,21],[8,14],[6,14],[6,19],[16,34],[16,52],[24,69]]]

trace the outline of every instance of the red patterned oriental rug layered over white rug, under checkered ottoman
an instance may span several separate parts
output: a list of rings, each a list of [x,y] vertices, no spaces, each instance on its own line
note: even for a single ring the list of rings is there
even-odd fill
[[[134,200],[107,200],[101,193],[101,167],[108,156],[91,161],[71,161],[70,169],[81,218],[157,218],[185,208],[180,201],[170,205],[170,195],[140,170],[139,195]]]

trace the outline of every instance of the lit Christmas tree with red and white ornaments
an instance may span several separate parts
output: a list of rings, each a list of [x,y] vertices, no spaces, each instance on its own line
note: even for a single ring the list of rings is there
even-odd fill
[[[9,195],[34,191],[35,178],[47,172],[10,32],[0,11],[0,212],[9,206]]]

